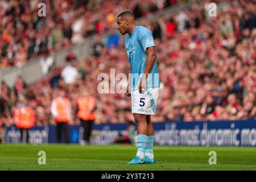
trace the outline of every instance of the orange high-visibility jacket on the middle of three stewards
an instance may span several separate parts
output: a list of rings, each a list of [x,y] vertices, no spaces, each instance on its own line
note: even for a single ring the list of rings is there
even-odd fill
[[[68,98],[57,97],[53,100],[55,102],[56,122],[68,122],[70,119],[71,103]]]

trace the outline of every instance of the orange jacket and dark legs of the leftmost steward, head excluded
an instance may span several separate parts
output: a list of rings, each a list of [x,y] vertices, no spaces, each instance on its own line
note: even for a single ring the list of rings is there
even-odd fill
[[[14,123],[20,129],[21,142],[28,143],[28,129],[35,125],[35,113],[30,107],[24,106],[15,110]],[[25,134],[25,135],[24,135]]]

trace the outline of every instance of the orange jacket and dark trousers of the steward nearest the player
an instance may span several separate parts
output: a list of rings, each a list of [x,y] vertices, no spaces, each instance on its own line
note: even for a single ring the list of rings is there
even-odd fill
[[[79,97],[76,101],[77,117],[80,118],[82,127],[84,127],[83,141],[80,144],[89,143],[92,125],[96,118],[96,99],[93,96]]]

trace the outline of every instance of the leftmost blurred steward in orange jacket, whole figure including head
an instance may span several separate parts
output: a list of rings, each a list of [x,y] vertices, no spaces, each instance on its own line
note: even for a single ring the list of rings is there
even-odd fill
[[[20,142],[28,143],[28,131],[35,125],[35,113],[23,95],[19,95],[19,102],[14,113],[14,123],[20,129]]]

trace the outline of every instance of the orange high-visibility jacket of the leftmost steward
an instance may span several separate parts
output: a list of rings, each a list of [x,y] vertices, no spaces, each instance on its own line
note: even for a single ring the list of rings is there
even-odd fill
[[[14,123],[20,129],[30,129],[35,125],[35,113],[30,107],[20,107],[15,110]]]

